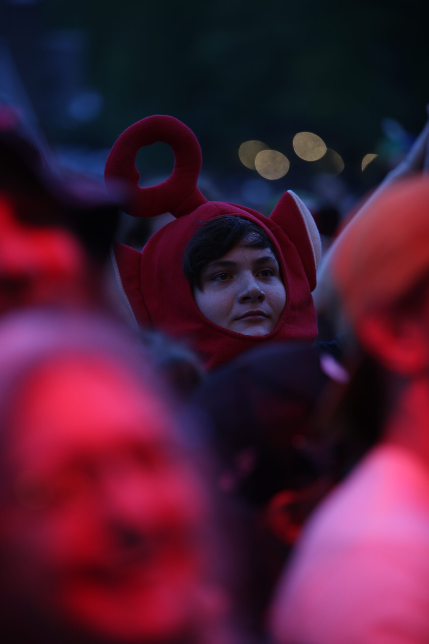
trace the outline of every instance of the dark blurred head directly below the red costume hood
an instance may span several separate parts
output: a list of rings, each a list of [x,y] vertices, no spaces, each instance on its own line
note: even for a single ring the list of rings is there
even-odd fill
[[[291,506],[320,480],[311,441],[327,381],[318,348],[286,343],[248,351],[207,379],[194,403],[212,422],[221,488],[263,513],[278,495]]]

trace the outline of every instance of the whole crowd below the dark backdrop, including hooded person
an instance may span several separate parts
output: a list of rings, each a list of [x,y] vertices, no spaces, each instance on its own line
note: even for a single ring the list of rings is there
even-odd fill
[[[429,124],[342,223],[200,167],[148,117],[106,189],[0,106],[0,641],[427,644]]]

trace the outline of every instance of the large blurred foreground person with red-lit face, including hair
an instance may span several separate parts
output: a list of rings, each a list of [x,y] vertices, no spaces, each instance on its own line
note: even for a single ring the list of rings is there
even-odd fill
[[[136,347],[40,312],[0,339],[1,641],[217,641],[208,495]]]

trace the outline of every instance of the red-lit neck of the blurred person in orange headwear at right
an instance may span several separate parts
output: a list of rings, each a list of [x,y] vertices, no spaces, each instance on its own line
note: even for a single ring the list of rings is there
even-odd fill
[[[384,440],[412,452],[429,471],[429,375],[403,385],[385,425]]]

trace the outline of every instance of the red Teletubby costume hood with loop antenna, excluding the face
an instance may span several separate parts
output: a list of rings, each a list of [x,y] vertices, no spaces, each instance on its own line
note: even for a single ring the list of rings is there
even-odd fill
[[[141,188],[135,166],[140,147],[169,144],[174,169],[161,184]],[[136,321],[188,343],[213,368],[234,355],[273,340],[312,342],[317,335],[311,291],[316,286],[320,237],[307,207],[291,191],[283,194],[269,217],[241,205],[208,202],[197,188],[201,148],[194,133],[177,118],[155,115],[127,128],[116,140],[105,165],[107,190],[128,184],[131,198],[123,210],[137,217],[170,212],[176,221],[149,239],[142,252],[117,243],[114,256],[123,296]],[[221,328],[197,308],[182,270],[185,248],[202,223],[235,215],[257,223],[277,250],[286,289],[286,307],[277,327],[266,336],[244,336]]]

